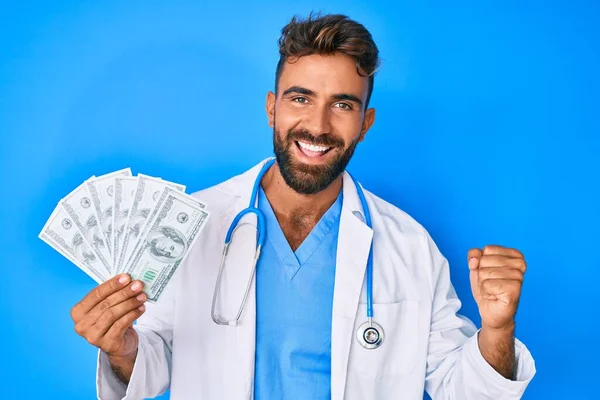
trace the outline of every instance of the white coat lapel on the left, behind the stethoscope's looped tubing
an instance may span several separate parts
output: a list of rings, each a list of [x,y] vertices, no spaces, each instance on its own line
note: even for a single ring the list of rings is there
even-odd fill
[[[246,173],[232,178],[227,185],[224,185],[224,189],[235,194],[237,199],[220,215],[221,238],[225,239],[235,216],[248,207],[254,181],[263,163],[261,162]],[[246,285],[251,279],[256,249],[256,217],[246,215],[238,226],[227,253],[216,302],[217,314],[228,320],[234,319],[242,303]],[[235,380],[235,384],[226,389],[228,398],[232,399],[249,399],[253,395],[256,344],[255,288],[255,279],[252,278],[248,299],[238,326],[223,326],[226,329],[224,331],[226,340],[229,342],[225,369],[227,373],[232,374]]]

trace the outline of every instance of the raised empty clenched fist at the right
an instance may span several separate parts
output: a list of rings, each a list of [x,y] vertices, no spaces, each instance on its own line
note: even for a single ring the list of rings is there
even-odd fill
[[[479,307],[482,327],[503,329],[514,323],[523,275],[523,254],[502,246],[485,246],[468,253],[471,290]]]

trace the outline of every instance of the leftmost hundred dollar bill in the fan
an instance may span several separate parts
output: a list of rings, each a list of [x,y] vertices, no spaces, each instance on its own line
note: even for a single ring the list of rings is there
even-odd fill
[[[39,238],[88,274],[97,283],[109,274],[67,211],[59,204],[46,222]]]

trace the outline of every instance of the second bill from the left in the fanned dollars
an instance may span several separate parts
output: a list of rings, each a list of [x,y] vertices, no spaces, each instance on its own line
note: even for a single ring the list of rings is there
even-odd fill
[[[110,253],[98,223],[98,217],[92,206],[92,196],[86,182],[69,193],[67,197],[60,201],[60,204],[79,228],[86,241],[92,246],[106,270],[110,271]]]

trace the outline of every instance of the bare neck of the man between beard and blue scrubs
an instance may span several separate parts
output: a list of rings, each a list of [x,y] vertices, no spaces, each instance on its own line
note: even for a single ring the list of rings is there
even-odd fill
[[[312,215],[319,219],[342,190],[342,175],[318,193],[301,194],[285,183],[279,166],[275,163],[263,177],[261,186],[277,216],[292,218]]]

